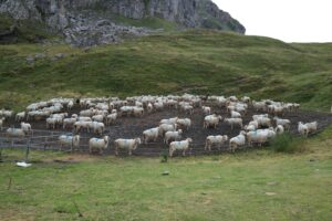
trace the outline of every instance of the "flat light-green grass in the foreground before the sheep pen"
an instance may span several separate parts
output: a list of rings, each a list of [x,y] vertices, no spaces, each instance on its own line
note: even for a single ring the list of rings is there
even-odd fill
[[[294,155],[261,149],[166,164],[32,151],[23,169],[13,162],[23,152],[6,149],[0,220],[329,221],[331,135],[332,127]]]

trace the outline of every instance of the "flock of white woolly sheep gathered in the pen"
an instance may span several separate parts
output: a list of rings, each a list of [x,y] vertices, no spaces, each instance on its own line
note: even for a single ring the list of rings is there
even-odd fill
[[[77,103],[77,104],[76,104]],[[77,114],[69,113],[75,105],[80,105],[81,112]],[[252,120],[243,125],[242,117],[247,115],[248,108],[253,108],[263,114],[253,115]],[[105,126],[113,125],[117,118],[125,116],[142,117],[153,112],[160,112],[175,108],[186,114],[186,118],[173,117],[160,119],[159,124],[154,128],[147,128],[142,133],[142,137],[136,138],[118,138],[114,140],[115,154],[120,149],[126,149],[129,155],[142,143],[157,141],[159,137],[164,138],[164,143],[169,145],[169,156],[172,157],[176,150],[183,151],[190,148],[193,138],[183,139],[185,130],[191,126],[190,116],[194,110],[201,108],[205,117],[201,127],[216,128],[222,120],[229,125],[232,130],[239,128],[239,135],[229,138],[227,135],[210,135],[206,138],[205,149],[211,150],[211,147],[220,148],[222,144],[229,143],[229,149],[235,151],[238,147],[248,144],[262,145],[272,139],[276,135],[282,134],[290,129],[291,122],[282,118],[287,112],[297,112],[300,108],[295,103],[281,103],[271,99],[251,101],[245,96],[240,99],[236,96],[198,96],[184,94],[181,96],[134,96],[125,99],[117,97],[96,97],[96,98],[53,98],[48,102],[39,102],[29,105],[25,112],[14,113],[12,110],[0,110],[0,129],[7,118],[14,117],[21,123],[21,128],[8,128],[6,134],[11,137],[24,137],[31,133],[31,125],[27,122],[44,120],[48,129],[72,128],[74,135],[61,135],[58,139],[63,146],[80,146],[80,133],[93,133],[98,137],[89,140],[90,152],[100,150],[103,152],[108,147],[110,137],[105,134]],[[229,116],[224,117],[217,115],[219,109],[227,109]],[[308,136],[318,129],[318,123],[298,123],[298,131]]]

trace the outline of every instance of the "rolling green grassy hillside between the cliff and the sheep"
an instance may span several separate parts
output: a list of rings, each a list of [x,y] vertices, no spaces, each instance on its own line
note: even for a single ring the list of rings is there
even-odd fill
[[[44,53],[31,65],[27,55]],[[53,61],[54,54],[65,57]],[[41,98],[191,92],[250,95],[328,110],[332,43],[287,44],[215,31],[139,38],[90,51],[68,45],[0,45],[0,104]]]

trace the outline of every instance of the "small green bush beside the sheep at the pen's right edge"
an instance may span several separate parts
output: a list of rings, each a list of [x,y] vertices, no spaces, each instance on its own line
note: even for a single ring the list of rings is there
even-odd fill
[[[277,135],[271,141],[271,149],[277,152],[300,152],[304,150],[303,139],[299,137],[294,137],[294,135],[290,133],[283,133],[281,135]]]

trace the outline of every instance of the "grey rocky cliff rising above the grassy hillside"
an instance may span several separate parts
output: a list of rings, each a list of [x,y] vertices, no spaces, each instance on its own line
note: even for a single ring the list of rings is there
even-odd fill
[[[167,21],[176,29],[246,31],[210,0],[0,0],[0,13],[14,20],[42,22],[75,45],[112,43],[125,35],[148,34],[156,25],[137,21],[152,19]]]

